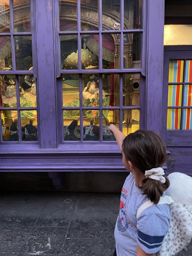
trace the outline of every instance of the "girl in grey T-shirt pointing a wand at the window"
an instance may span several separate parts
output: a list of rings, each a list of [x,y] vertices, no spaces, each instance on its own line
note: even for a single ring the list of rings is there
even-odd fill
[[[122,151],[123,164],[130,172],[121,192],[114,256],[154,256],[169,228],[169,206],[149,207],[138,219],[136,213],[149,199],[157,204],[169,187],[161,168],[166,158],[165,145],[152,131],[138,130],[126,137],[113,124],[108,129],[113,132]]]

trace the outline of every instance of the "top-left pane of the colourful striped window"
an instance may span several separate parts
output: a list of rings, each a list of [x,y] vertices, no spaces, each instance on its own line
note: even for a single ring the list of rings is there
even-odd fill
[[[169,83],[183,82],[183,60],[169,61]]]

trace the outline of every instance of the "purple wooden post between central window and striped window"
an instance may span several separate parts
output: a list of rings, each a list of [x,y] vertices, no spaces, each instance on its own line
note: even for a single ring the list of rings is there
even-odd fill
[[[161,134],[164,0],[148,3],[146,128]]]

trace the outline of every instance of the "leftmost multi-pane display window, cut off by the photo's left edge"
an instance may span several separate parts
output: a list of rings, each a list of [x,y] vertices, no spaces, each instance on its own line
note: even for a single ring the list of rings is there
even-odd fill
[[[0,22],[1,138],[7,143],[37,143],[37,81],[32,61],[31,1],[0,2],[0,21],[4,20],[3,24]],[[8,35],[4,36],[4,32]]]

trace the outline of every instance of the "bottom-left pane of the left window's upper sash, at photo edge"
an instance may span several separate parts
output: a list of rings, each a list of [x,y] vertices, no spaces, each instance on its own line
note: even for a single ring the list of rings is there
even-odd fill
[[[12,69],[11,37],[0,36],[0,70]]]

